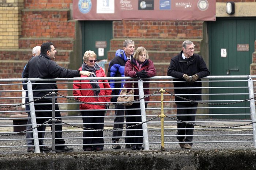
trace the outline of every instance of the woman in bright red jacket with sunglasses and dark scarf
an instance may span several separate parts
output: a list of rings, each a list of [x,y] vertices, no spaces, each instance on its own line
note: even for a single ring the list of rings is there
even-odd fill
[[[79,70],[89,71],[94,73],[91,74],[89,77],[106,77],[102,67],[100,67],[96,61],[96,54],[93,51],[86,51],[83,56],[83,65],[80,67]],[[81,77],[87,77],[82,76]],[[108,82],[108,80],[81,80],[81,81],[74,81],[75,84],[73,85],[74,89],[73,94],[77,96],[76,99],[95,103],[95,102],[103,102],[104,104],[110,102],[111,97],[104,97],[104,96],[111,96],[112,90],[110,89],[109,83],[102,83]],[[84,83],[87,82],[87,83]],[[104,90],[104,88],[109,88]],[[85,90],[91,89],[91,90]],[[81,96],[81,97],[80,97]],[[86,97],[91,96],[91,97]],[[103,96],[103,97],[102,97]],[[102,103],[102,104],[103,104]],[[85,128],[94,128],[94,129],[103,129],[104,127],[104,114],[105,111],[99,111],[98,109],[105,109],[105,105],[92,105],[92,104],[80,104],[81,114],[83,116],[83,127]],[[92,116],[102,116],[102,117],[92,117]],[[97,124],[94,124],[97,123]],[[102,137],[102,138],[93,138],[93,137]],[[103,131],[84,131],[83,132],[83,150],[84,151],[92,151],[103,150]]]

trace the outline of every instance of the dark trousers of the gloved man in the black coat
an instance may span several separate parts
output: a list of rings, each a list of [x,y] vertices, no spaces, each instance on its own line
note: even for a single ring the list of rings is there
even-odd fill
[[[191,115],[191,116],[177,116],[177,119],[182,121],[195,121],[197,105],[198,104],[186,104],[186,105],[177,104],[177,108],[183,108],[183,109],[177,109],[177,115]],[[187,109],[187,108],[195,108],[195,109]],[[188,142],[192,146],[193,136],[186,136],[186,135],[193,135],[194,125],[178,122],[177,128],[178,128],[177,139],[179,141],[184,140],[185,142]],[[184,128],[184,129],[181,129],[181,128]]]

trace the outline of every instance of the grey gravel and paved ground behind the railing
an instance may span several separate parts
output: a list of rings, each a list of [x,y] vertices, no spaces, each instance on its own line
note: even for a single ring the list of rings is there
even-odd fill
[[[64,120],[63,120],[64,121]],[[81,120],[65,120],[68,123],[81,123]],[[205,121],[205,120],[204,120]],[[208,120],[206,120],[208,121]],[[109,122],[109,121],[105,121]],[[11,120],[0,120],[0,125],[10,125],[12,124]],[[202,124],[202,123],[196,123]],[[209,123],[211,126],[232,126],[244,124],[241,122],[238,123]],[[205,124],[204,124],[205,125]],[[81,125],[80,125],[81,126]],[[105,129],[112,129],[112,125],[106,124]],[[168,124],[165,126],[165,150],[166,151],[182,151],[177,142],[176,135],[176,125]],[[222,149],[251,149],[254,150],[253,144],[253,134],[252,134],[252,125],[242,126],[241,128],[236,129],[202,129],[201,127],[196,127],[194,131],[194,139],[192,150],[222,150]],[[157,129],[157,130],[156,130]],[[161,131],[158,124],[149,124],[148,123],[148,136],[149,136],[149,146],[152,151],[159,151],[161,149]],[[47,126],[46,130],[50,130],[50,127]],[[63,126],[64,131],[75,131],[75,132],[63,132],[63,138],[68,146],[74,148],[74,152],[84,152],[82,149],[82,129],[75,127]],[[12,131],[12,127],[0,127],[0,132]],[[124,136],[123,132],[123,136]],[[131,152],[131,149],[124,148],[124,138],[120,139],[121,149],[113,150],[112,149],[112,131],[104,131],[104,150],[103,151],[120,151],[120,152]],[[203,135],[203,136],[202,136]],[[225,136],[223,136],[225,135]],[[50,132],[45,134],[45,144],[51,145],[52,140]],[[9,139],[9,140],[5,140]],[[12,153],[27,153],[26,147],[13,147],[13,146],[26,146],[25,135],[10,135],[10,136],[1,136],[0,137],[0,154],[12,154]],[[94,151],[96,152],[96,151]],[[138,152],[138,151],[137,151]]]

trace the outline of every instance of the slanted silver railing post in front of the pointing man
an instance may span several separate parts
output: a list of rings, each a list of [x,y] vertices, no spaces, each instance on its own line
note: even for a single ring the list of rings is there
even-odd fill
[[[32,84],[29,78],[27,78],[27,94],[29,96],[29,101],[33,101],[34,100],[33,89],[32,89]],[[30,108],[31,124],[32,124],[32,128],[34,128],[34,127],[37,127],[37,119],[35,116],[34,102],[31,102],[29,104],[29,108]],[[34,145],[35,145],[35,153],[40,153],[37,128],[33,129],[33,138],[34,138]]]

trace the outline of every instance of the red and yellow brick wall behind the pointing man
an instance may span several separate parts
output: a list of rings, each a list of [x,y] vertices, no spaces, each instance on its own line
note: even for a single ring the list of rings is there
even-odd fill
[[[53,42],[57,50],[57,63],[69,67],[76,32],[76,21],[70,20],[72,0],[2,0],[0,4],[0,78],[20,78],[33,47],[48,41]],[[58,86],[59,89],[68,88],[67,85]],[[22,85],[0,86],[0,90],[6,89],[20,90]],[[60,93],[68,96],[66,91]],[[1,104],[22,101],[17,98],[22,96],[21,92],[1,92],[1,96],[14,97],[1,100]],[[8,108],[8,111],[18,110],[20,107]]]

